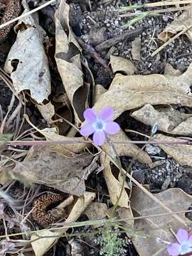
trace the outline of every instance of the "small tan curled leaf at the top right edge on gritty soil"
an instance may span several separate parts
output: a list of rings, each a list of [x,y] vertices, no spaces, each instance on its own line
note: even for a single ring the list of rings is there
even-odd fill
[[[192,9],[192,7],[191,7]],[[178,16],[171,24],[169,24],[163,32],[161,32],[158,38],[161,41],[168,41],[169,38],[176,35],[176,33],[183,31],[183,29],[190,28],[192,23],[192,10],[190,11],[183,11],[183,13]],[[192,40],[192,28],[186,31],[186,36],[190,40]]]

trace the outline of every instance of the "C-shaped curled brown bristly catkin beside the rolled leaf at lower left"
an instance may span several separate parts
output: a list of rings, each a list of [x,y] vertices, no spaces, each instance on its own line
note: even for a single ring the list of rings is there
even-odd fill
[[[46,228],[51,223],[54,223],[57,219],[47,211],[47,208],[54,203],[61,203],[63,199],[64,197],[62,195],[54,193],[45,193],[40,196],[33,203],[33,220],[35,220],[36,223],[43,228]]]

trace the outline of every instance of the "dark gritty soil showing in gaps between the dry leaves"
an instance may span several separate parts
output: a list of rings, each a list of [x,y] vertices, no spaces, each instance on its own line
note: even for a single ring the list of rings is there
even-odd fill
[[[41,2],[42,1],[40,0],[31,0],[29,1],[29,4],[31,7],[33,7],[41,4]],[[134,28],[142,28],[142,33],[138,33],[137,36],[128,38],[127,40],[120,41],[119,43],[116,43],[114,46],[106,48],[105,50],[97,50],[97,54],[99,54],[107,64],[110,61],[110,55],[118,55],[128,58],[129,60],[132,60],[136,66],[137,74],[142,75],[164,73],[166,63],[170,63],[174,68],[184,72],[192,61],[191,42],[184,35],[170,43],[169,46],[166,46],[166,48],[161,50],[157,55],[155,55],[154,58],[151,58],[150,56],[151,53],[156,50],[156,48],[159,48],[159,46],[162,45],[162,42],[157,38],[159,33],[169,23],[171,23],[174,17],[179,15],[180,12],[173,12],[169,14],[164,13],[161,16],[147,17],[142,21],[135,23],[130,28],[124,30],[122,26],[127,22],[127,18],[120,17],[115,10],[128,4],[143,4],[144,2],[147,3],[154,1],[101,0],[91,1],[90,5],[89,1],[71,0],[68,2],[70,3],[70,26],[72,26],[75,35],[84,42],[85,48],[83,53],[90,65],[90,69],[92,70],[96,84],[100,84],[105,88],[109,87],[112,81],[112,75],[101,65],[101,63],[98,63],[97,60],[95,60],[95,58],[90,55],[89,52],[87,52],[86,46],[97,48],[100,43],[106,41],[107,39],[122,35],[129,30],[132,31]],[[100,4],[102,2],[107,2],[107,4]],[[53,23],[54,11],[55,6],[48,6],[40,12],[41,25],[48,33],[48,36],[53,39],[55,36],[55,26]],[[11,33],[13,33],[13,31]],[[135,38],[141,38],[142,43],[140,53],[141,60],[139,61],[132,59],[132,41],[134,41]],[[0,43],[1,68],[4,66],[11,43],[11,36],[7,38],[6,41]],[[53,91],[56,91],[57,89],[55,89],[55,87],[57,83],[60,83],[60,77],[54,65],[55,63],[53,60],[50,65],[50,71],[52,78],[54,78],[53,80],[56,81],[53,82]],[[90,78],[85,74],[85,80],[86,79],[89,80]],[[11,95],[11,90],[6,87],[0,78],[0,104],[4,115],[9,107]],[[33,124],[35,124],[37,127],[44,127],[45,122],[43,117],[41,117],[41,114],[39,114],[36,107],[34,107],[31,103],[26,105],[26,113]],[[131,126],[136,130],[141,129],[141,124],[139,122],[126,119],[126,113],[122,114],[122,117],[119,117],[118,122],[123,129],[130,129]],[[23,128],[23,130],[26,129],[28,129],[28,124],[26,124],[26,127]],[[142,132],[146,132],[146,134],[149,133],[149,127],[144,127],[144,124],[142,124]],[[141,137],[134,134],[131,134],[131,138],[136,140],[141,139]],[[143,137],[142,140],[144,140]],[[192,194],[191,168],[188,168],[188,166],[179,166],[174,159],[171,159],[170,156],[166,155],[158,146],[148,145],[145,150],[154,161],[154,166],[151,168],[145,164],[139,163],[138,161],[134,161],[129,171],[132,171],[132,174],[137,181],[142,184],[149,184],[150,191],[153,193],[159,193],[167,188],[178,187],[182,188],[186,193]],[[132,159],[129,159],[127,156],[122,156],[121,160],[124,169],[129,169],[129,164]],[[90,175],[86,186],[89,191],[97,191],[98,194],[100,194],[98,198],[107,202],[107,198],[102,196],[102,194],[107,194],[107,186],[102,173]],[[42,190],[43,189],[44,188],[42,188]],[[91,230],[90,228],[85,227],[84,230],[77,230],[78,233],[80,231],[86,233],[90,232]],[[2,227],[0,227],[0,234],[1,233],[4,233]],[[98,255],[99,249],[94,249],[95,243],[93,242],[93,238],[84,239],[77,237],[77,239],[80,245],[85,249],[84,255]],[[84,242],[80,242],[80,240]],[[66,248],[63,246],[65,243],[65,240],[59,240],[54,249],[56,256],[68,255],[67,253],[70,251],[71,245],[70,248]],[[127,248],[127,253],[129,256],[137,255],[137,252],[135,252],[131,242]],[[50,252],[48,252],[46,255],[53,255],[53,250],[50,250]]]

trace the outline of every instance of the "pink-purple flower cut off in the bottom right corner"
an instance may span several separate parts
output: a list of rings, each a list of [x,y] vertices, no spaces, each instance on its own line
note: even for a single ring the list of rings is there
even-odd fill
[[[176,239],[178,242],[172,243],[167,251],[171,256],[186,255],[191,252],[192,256],[192,235],[188,235],[188,232],[183,228],[179,228],[176,233]]]

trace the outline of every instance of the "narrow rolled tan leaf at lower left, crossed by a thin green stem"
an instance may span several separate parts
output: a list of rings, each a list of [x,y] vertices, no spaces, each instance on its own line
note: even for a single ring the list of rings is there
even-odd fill
[[[73,223],[80,215],[85,211],[87,206],[90,205],[91,201],[95,198],[95,193],[85,192],[78,201],[73,206],[73,209],[70,212],[70,215],[65,220],[64,225],[68,223]],[[55,232],[50,230],[39,230],[36,234],[31,235],[31,245],[35,252],[36,256],[43,256],[56,242],[58,239],[68,230],[68,228],[63,228],[60,230],[56,230]],[[46,237],[46,238],[39,238]],[[39,238],[39,239],[37,239]],[[43,246],[42,246],[43,245]]]

